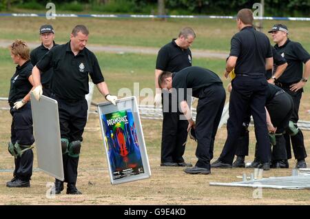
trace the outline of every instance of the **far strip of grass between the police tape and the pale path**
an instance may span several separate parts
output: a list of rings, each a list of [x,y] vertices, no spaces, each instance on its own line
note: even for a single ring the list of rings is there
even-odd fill
[[[264,21],[264,32],[279,21]],[[56,31],[56,41],[66,42],[74,25],[83,23],[90,29],[90,41],[100,45],[134,45],[160,48],[172,38],[176,38],[181,28],[192,27],[196,40],[192,48],[196,50],[229,51],[230,39],[238,30],[236,21],[222,19],[94,19],[94,18],[19,18],[0,17],[0,40],[24,39],[39,41],[39,27],[51,23]],[[309,22],[281,21],[287,25],[291,40],[299,41],[308,51]],[[270,35],[270,34],[268,34]],[[271,42],[271,44],[273,44]]]

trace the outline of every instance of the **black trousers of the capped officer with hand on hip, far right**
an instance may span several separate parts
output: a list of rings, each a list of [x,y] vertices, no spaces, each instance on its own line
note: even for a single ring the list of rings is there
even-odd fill
[[[297,123],[299,120],[298,111],[303,90],[301,89],[298,90],[298,92],[291,92],[291,90],[289,90],[289,87],[282,87],[282,89],[285,90],[285,92],[287,92],[287,94],[289,94],[293,99],[294,107],[290,120],[293,121],[293,123]],[[304,158],[307,158],[307,152],[304,148],[304,135],[302,134],[302,131],[300,129],[296,136],[289,136],[289,134],[285,134],[284,137],[287,147],[287,159],[291,158],[291,146],[293,147],[293,153],[296,159],[302,160]]]

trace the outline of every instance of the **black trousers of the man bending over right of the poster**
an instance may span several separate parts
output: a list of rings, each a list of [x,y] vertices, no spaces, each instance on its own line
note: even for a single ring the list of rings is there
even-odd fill
[[[214,84],[200,92],[196,116],[197,167],[210,169],[214,139],[225,105],[226,92],[222,84]]]

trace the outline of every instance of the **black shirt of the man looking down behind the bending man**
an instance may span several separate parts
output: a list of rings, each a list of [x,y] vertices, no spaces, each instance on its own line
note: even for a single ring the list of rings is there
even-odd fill
[[[167,72],[178,72],[185,67],[192,66],[192,52],[191,50],[183,50],[173,39],[170,43],[164,45],[158,51],[156,60],[156,69]]]

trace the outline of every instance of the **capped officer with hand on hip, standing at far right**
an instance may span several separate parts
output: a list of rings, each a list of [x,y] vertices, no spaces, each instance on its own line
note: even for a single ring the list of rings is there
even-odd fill
[[[288,63],[287,69],[276,80],[276,85],[281,87],[293,98],[294,110],[291,115],[291,121],[293,126],[291,129],[296,129],[298,122],[298,110],[300,105],[300,99],[302,98],[302,92],[304,85],[306,85],[310,75],[310,54],[302,48],[300,43],[290,41],[287,38],[289,30],[287,26],[282,24],[273,25],[273,28],[269,31],[273,38],[273,42],[276,43],[274,48]],[[302,63],[304,63],[304,73],[302,74]],[[299,129],[299,132],[294,136],[285,134],[285,140],[287,144],[287,156],[291,158],[291,145],[293,147],[294,156],[297,159],[296,168],[306,168],[307,164],[304,158],[307,157],[306,149],[304,148],[304,136]],[[291,143],[290,143],[291,140]]]

